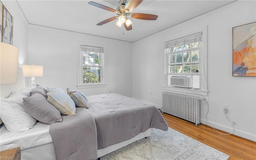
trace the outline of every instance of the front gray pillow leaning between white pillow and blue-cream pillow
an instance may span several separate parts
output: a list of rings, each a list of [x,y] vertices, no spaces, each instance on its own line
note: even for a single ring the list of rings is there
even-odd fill
[[[60,111],[52,106],[42,94],[34,93],[31,97],[23,98],[23,108],[40,122],[46,124],[62,122]]]

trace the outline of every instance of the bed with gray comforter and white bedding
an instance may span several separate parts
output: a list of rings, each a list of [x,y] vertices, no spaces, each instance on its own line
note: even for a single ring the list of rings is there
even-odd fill
[[[29,97],[33,92],[27,88],[22,97]],[[14,100],[20,101],[20,97]],[[23,160],[94,160],[150,136],[153,128],[168,130],[160,111],[146,102],[115,93],[86,96],[86,100],[88,107],[76,107],[72,116],[61,115],[61,122],[58,119],[46,124],[37,120],[23,132],[10,132],[2,126],[0,150],[20,146]],[[2,111],[1,106],[1,118]]]

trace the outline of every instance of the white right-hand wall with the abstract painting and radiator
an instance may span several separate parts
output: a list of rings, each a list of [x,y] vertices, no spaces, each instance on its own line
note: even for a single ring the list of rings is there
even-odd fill
[[[232,126],[223,112],[223,104],[227,104],[227,116],[236,122],[234,134],[256,141],[256,77],[232,76],[232,27],[255,22],[255,10],[256,1],[234,2],[134,42],[134,98],[162,106],[164,42],[207,26],[208,122],[216,128],[232,132]],[[207,107],[205,102],[201,104],[200,122],[205,123]]]

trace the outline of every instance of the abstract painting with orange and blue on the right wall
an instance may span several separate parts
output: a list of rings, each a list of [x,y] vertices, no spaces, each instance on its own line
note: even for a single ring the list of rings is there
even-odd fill
[[[233,27],[233,76],[256,76],[256,22]]]

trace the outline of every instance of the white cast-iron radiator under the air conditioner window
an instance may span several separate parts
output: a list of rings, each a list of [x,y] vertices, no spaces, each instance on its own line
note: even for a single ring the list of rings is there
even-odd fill
[[[162,112],[196,124],[200,123],[198,97],[163,92]]]

